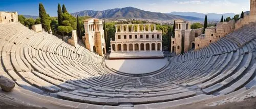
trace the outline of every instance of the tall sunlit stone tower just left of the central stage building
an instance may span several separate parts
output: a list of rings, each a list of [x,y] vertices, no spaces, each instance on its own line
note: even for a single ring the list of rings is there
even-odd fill
[[[103,56],[106,53],[106,44],[103,30],[103,20],[89,18],[83,20],[86,48]]]

